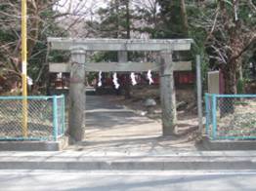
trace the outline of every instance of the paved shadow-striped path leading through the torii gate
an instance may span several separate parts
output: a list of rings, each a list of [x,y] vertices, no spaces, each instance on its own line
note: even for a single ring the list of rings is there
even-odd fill
[[[161,122],[118,105],[116,96],[86,96],[86,99],[86,138],[68,149],[120,154],[195,149],[187,136],[162,137]]]

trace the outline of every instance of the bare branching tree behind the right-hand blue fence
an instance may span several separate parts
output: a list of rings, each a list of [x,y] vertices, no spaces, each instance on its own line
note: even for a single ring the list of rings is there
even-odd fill
[[[211,9],[203,4],[210,4]],[[202,1],[200,17],[191,19],[193,26],[207,33],[204,45],[211,60],[224,72],[226,94],[236,94],[241,58],[256,43],[254,6],[252,1],[243,0]]]

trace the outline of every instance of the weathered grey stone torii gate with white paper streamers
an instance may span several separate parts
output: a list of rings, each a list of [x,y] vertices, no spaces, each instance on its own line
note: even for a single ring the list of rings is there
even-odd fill
[[[189,51],[192,39],[145,40],[145,39],[71,39],[48,38],[52,50],[71,52],[69,88],[69,134],[77,141],[85,135],[85,77],[87,71],[142,72],[160,71],[160,99],[162,107],[162,134],[174,134],[176,126],[176,98],[173,71],[177,68],[191,68],[190,62],[173,62],[174,51]],[[87,52],[116,51],[118,62],[92,63]],[[157,52],[156,62],[128,62],[129,51]]]

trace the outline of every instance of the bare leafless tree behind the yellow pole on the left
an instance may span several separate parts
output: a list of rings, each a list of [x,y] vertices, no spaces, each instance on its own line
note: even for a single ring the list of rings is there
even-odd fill
[[[64,36],[72,31],[75,24],[88,16],[89,10],[92,9],[86,3],[87,1],[76,0],[28,0],[28,57],[32,59],[47,52],[46,37],[48,35]],[[58,26],[64,26],[64,29],[58,29]],[[0,75],[5,78],[16,76],[16,80],[19,80],[21,78],[21,1],[0,0],[0,28],[2,33]],[[35,51],[38,43],[45,46]],[[38,69],[36,81],[39,81],[47,65],[47,57],[46,54],[45,59],[38,63],[40,69]]]

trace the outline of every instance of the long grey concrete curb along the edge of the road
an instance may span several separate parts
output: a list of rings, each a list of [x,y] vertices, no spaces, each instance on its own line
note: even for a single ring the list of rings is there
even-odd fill
[[[194,171],[256,170],[255,156],[1,157],[2,170]]]

